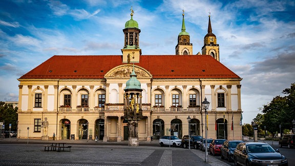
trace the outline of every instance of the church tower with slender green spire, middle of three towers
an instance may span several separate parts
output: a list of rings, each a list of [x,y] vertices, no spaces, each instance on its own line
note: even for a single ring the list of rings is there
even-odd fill
[[[182,10],[182,27],[178,35],[178,42],[175,46],[176,55],[193,55],[193,44],[189,43],[189,34],[185,32],[184,10]]]

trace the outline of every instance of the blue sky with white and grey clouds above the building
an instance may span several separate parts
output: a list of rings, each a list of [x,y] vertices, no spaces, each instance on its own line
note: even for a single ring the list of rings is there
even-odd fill
[[[0,1],[0,100],[18,101],[17,78],[53,55],[120,55],[133,6],[143,55],[173,55],[182,9],[193,54],[208,12],[220,62],[243,78],[243,122],[295,82],[294,1]]]

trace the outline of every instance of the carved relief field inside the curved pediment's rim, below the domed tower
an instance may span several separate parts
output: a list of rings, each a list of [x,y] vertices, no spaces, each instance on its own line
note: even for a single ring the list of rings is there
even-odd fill
[[[130,77],[132,70],[133,66],[122,66],[114,69],[110,74],[108,74],[108,77]],[[146,73],[146,71],[140,68],[135,67],[134,71],[137,77],[151,77],[148,73]]]

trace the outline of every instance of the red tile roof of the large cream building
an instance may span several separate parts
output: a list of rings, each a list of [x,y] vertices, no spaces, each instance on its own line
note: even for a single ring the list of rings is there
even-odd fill
[[[101,79],[119,65],[121,55],[54,55],[20,79]],[[240,78],[209,55],[141,55],[135,65],[148,70],[153,79]]]

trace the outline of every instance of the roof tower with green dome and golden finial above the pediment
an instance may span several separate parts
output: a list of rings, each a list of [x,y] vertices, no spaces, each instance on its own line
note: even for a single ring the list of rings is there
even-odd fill
[[[131,19],[125,23],[124,32],[124,47],[122,51],[123,63],[138,63],[141,49],[139,48],[139,33],[138,23],[133,20],[133,9],[131,7]]]

